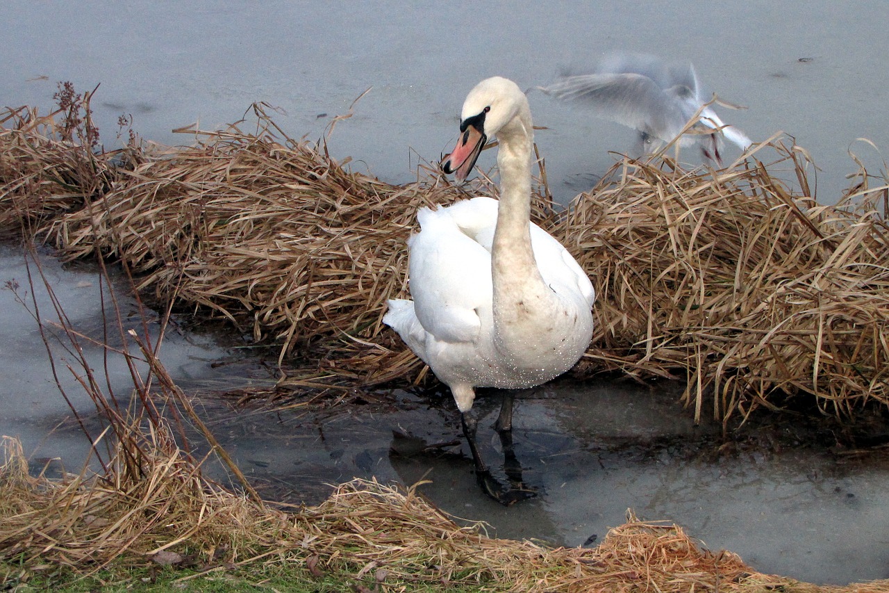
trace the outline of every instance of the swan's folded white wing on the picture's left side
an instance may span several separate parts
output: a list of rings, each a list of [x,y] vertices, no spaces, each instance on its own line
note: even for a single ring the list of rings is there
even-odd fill
[[[439,341],[475,341],[478,312],[493,299],[491,255],[461,232],[447,208],[420,210],[418,219],[409,263],[417,319]]]

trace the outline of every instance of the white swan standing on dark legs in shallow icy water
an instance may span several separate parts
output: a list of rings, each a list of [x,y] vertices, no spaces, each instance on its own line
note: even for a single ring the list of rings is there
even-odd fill
[[[481,481],[487,470],[466,414],[475,388],[537,386],[571,369],[592,337],[595,293],[565,248],[530,222],[525,93],[506,78],[482,81],[463,103],[460,132],[445,173],[466,179],[496,134],[501,198],[420,208],[421,230],[408,240],[413,300],[389,300],[383,321],[451,388]],[[509,429],[502,413],[500,424]]]

